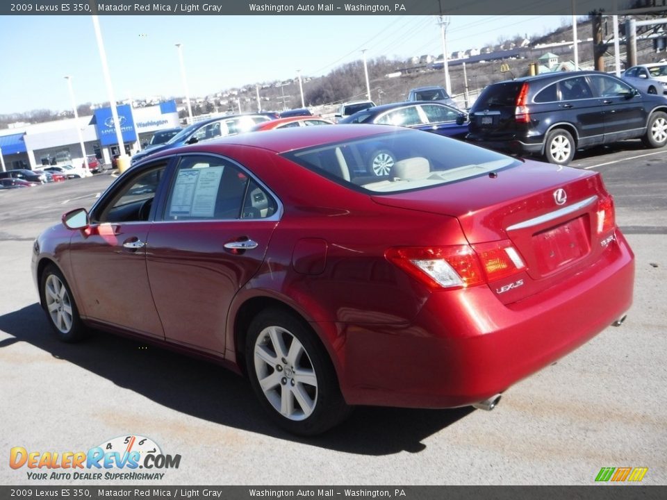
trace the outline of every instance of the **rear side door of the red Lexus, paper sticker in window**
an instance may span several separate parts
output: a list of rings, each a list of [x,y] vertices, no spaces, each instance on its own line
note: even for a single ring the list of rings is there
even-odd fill
[[[167,340],[224,351],[230,303],[263,262],[278,207],[231,160],[202,154],[179,160],[147,256]]]

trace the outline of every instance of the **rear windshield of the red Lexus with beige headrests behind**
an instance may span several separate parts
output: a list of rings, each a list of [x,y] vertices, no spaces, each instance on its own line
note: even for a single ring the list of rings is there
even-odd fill
[[[411,130],[290,151],[284,156],[333,181],[373,193],[431,188],[520,164],[495,151]]]

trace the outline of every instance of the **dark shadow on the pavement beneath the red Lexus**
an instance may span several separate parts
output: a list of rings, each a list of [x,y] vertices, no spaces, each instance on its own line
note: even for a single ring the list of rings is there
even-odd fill
[[[346,453],[416,453],[426,449],[425,438],[474,411],[470,407],[359,407],[347,421],[324,435],[295,437],[265,417],[245,378],[215,363],[201,363],[168,349],[101,331],[92,331],[90,338],[79,344],[65,344],[51,334],[38,303],[0,316],[0,331],[13,336],[0,341],[0,349],[28,342],[166,408],[215,424]]]

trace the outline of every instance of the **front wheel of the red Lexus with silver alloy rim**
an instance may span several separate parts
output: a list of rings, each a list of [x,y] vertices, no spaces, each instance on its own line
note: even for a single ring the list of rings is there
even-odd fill
[[[44,313],[58,340],[78,342],[85,338],[88,331],[79,317],[72,290],[58,267],[49,265],[44,269],[40,290]]]

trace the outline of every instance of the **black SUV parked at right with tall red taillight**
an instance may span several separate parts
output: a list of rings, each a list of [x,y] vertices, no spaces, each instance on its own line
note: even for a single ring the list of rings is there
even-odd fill
[[[466,140],[567,165],[575,150],[641,138],[667,144],[667,99],[600,72],[559,72],[489,85],[470,109]]]

